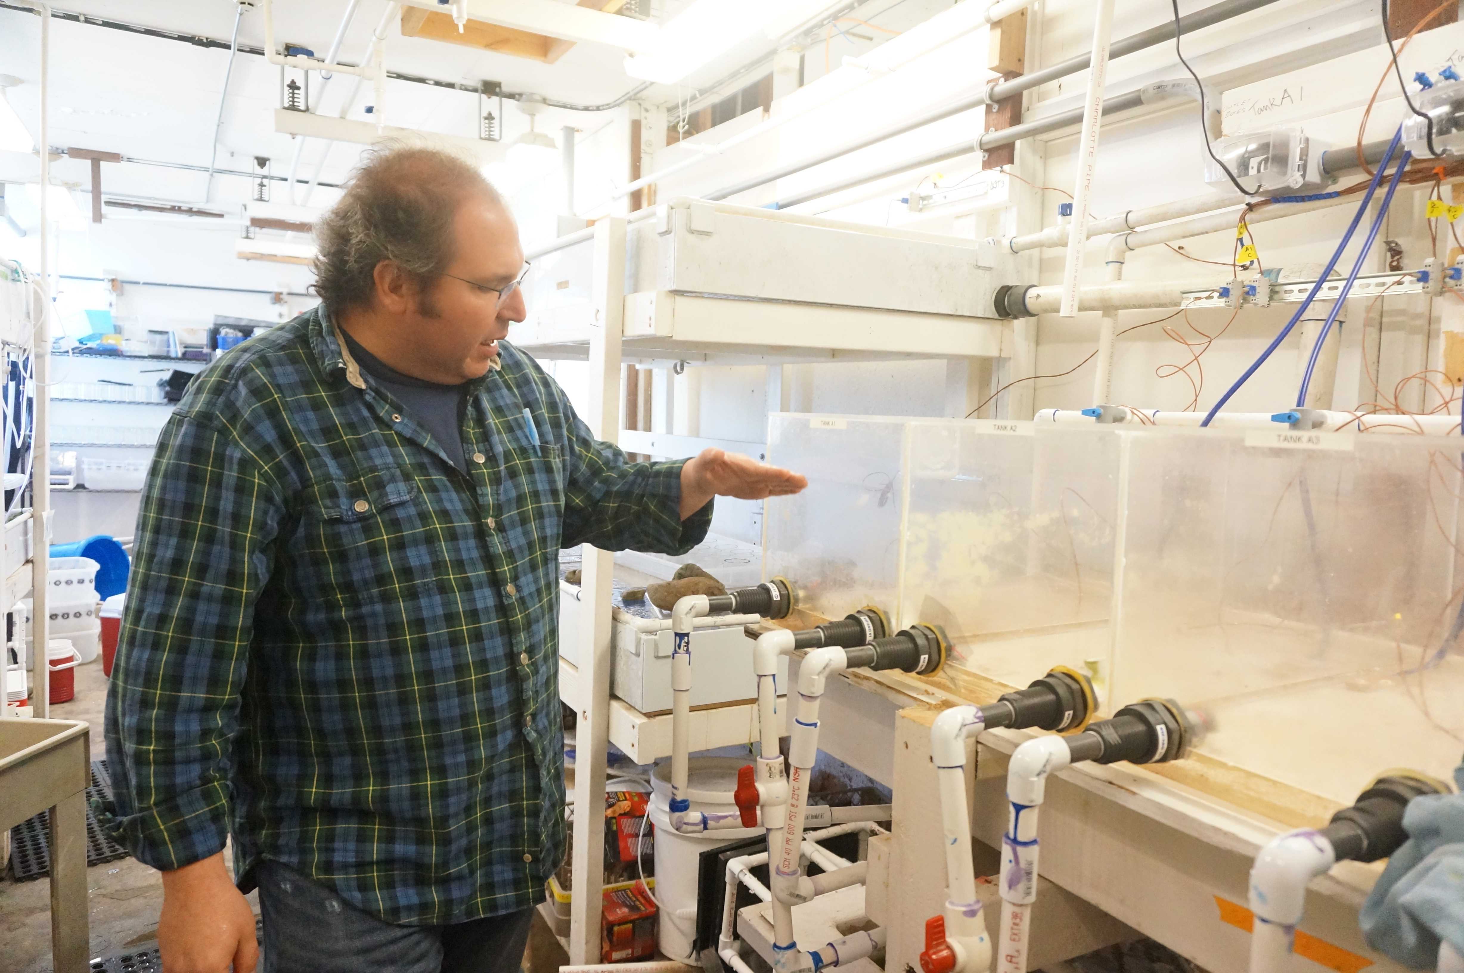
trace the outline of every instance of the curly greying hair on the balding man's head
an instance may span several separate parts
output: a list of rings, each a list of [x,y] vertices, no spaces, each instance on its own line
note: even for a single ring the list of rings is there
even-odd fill
[[[315,293],[331,317],[369,306],[376,264],[391,261],[417,283],[432,317],[432,281],[452,262],[452,218],[468,196],[502,205],[471,164],[442,149],[386,144],[369,149],[341,199],[315,223]]]

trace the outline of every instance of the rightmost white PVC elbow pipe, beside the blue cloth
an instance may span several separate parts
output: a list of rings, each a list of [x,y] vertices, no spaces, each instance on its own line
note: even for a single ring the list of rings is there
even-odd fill
[[[1250,973],[1288,969],[1287,957],[1306,904],[1306,885],[1335,863],[1332,843],[1310,828],[1277,835],[1261,848],[1250,866],[1250,911],[1256,916],[1250,935]]]

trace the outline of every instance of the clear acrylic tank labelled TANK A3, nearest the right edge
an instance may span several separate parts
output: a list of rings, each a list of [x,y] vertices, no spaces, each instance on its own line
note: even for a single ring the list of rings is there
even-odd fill
[[[1113,700],[1198,705],[1202,756],[1340,804],[1391,768],[1446,778],[1464,753],[1464,441],[1121,435]]]

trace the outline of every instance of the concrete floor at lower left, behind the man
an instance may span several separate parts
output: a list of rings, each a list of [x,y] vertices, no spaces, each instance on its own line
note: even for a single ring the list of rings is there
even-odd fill
[[[107,677],[101,661],[76,667],[76,698],[51,706],[56,719],[91,724],[92,759],[107,755],[102,708]],[[227,860],[227,856],[225,856]],[[91,903],[91,954],[146,948],[157,939],[163,882],[155,869],[136,859],[104,862],[86,869]],[[249,895],[255,904],[255,894]],[[255,904],[258,913],[258,904]],[[51,973],[51,884],[0,881],[0,969],[6,973]]]

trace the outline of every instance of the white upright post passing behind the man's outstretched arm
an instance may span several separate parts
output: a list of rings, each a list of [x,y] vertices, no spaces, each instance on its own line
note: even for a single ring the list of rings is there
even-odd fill
[[[594,224],[594,321],[590,330],[590,431],[608,443],[619,438],[621,340],[625,334],[625,220]],[[580,698],[575,711],[569,963],[600,961],[600,889],[605,887],[605,761],[610,731],[610,576],[609,551],[584,545],[581,614],[575,658]]]

